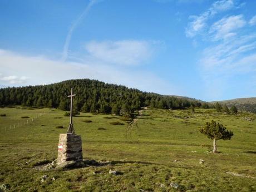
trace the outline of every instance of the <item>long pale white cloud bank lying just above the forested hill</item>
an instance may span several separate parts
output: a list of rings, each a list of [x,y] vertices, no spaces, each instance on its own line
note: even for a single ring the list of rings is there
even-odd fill
[[[15,86],[25,86],[43,85],[75,78],[90,78],[163,94],[170,94],[175,89],[170,83],[161,80],[153,73],[146,71],[145,68],[129,70],[127,67],[113,67],[95,60],[62,62],[46,57],[23,56],[11,51],[0,50],[0,66],[1,72],[4,74],[4,78],[1,76],[0,79],[2,86],[9,86],[9,83],[12,83],[6,81],[7,79],[18,80],[13,82]],[[22,77],[19,77],[20,74]]]

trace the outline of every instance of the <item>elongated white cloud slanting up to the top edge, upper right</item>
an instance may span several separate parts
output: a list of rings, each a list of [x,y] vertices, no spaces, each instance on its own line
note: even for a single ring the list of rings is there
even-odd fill
[[[207,21],[210,17],[213,17],[216,13],[232,9],[234,6],[233,0],[220,0],[211,4],[211,7],[199,16],[189,16],[190,22],[185,30],[186,37],[194,37],[201,34],[208,26]]]

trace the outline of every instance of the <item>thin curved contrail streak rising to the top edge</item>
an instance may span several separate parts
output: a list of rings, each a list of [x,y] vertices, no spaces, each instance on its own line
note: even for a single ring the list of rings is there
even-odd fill
[[[75,20],[75,22],[72,23],[72,26],[70,27],[70,30],[67,33],[65,45],[63,47],[63,52],[62,52],[62,61],[66,61],[67,56],[68,56],[68,47],[70,46],[70,40],[72,33],[74,29],[77,27],[78,23],[88,14],[92,6],[97,2],[97,0],[91,0],[90,3],[85,7],[83,12],[80,14],[80,16]]]

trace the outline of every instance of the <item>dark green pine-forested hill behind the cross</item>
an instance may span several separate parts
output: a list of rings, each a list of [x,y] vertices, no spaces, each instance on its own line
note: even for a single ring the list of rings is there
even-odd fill
[[[71,87],[76,93],[76,111],[124,115],[149,105],[160,109],[185,109],[191,105],[208,107],[207,103],[201,104],[199,101],[162,96],[89,79],[68,80],[50,85],[1,88],[0,105],[45,106],[68,110],[70,99],[67,95],[70,95]]]

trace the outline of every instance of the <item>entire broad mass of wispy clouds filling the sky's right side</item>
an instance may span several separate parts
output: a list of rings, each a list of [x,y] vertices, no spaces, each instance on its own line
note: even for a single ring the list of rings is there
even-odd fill
[[[255,82],[256,33],[250,27],[256,22],[254,17],[247,21],[243,14],[227,16],[225,13],[224,17],[216,20],[221,12],[243,5],[232,0],[216,1],[199,16],[190,16],[185,33],[198,43],[201,43],[200,38],[194,37],[203,37],[202,44],[206,47],[199,57],[198,68],[205,86],[204,96],[211,100],[223,99],[229,88],[236,88],[233,80],[238,76],[244,80],[241,81],[242,86],[248,90]]]

